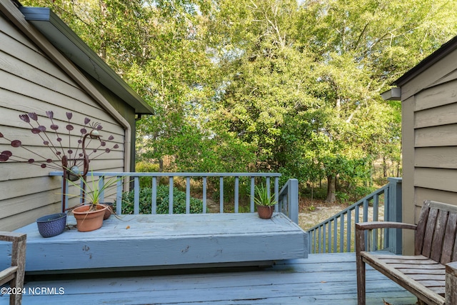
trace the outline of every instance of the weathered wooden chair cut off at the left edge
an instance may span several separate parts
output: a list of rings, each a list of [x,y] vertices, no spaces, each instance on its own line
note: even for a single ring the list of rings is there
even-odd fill
[[[11,291],[24,289],[24,275],[26,266],[26,234],[0,231],[0,241],[10,241],[11,267],[0,271],[0,286],[9,282]],[[19,305],[22,301],[22,294],[10,294],[9,304]]]

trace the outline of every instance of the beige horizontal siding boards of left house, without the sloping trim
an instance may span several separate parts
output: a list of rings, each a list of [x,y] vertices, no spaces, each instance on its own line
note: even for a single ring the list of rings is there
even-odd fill
[[[102,136],[112,134],[119,149],[91,161],[91,169],[124,171],[124,128],[0,13],[0,132],[50,157],[49,149],[19,119],[19,114],[36,112],[42,116],[41,124],[49,127],[49,110],[62,128],[68,111],[73,113],[74,125],[83,124],[85,117],[100,122]],[[4,150],[32,157],[0,139],[0,151]],[[50,177],[49,171],[22,162],[0,162],[0,231],[17,229],[61,210],[61,178]]]

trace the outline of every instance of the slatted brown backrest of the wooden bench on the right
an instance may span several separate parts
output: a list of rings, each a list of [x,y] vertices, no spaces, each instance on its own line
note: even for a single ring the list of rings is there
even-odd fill
[[[457,261],[457,206],[426,200],[419,216],[414,253],[447,264]]]

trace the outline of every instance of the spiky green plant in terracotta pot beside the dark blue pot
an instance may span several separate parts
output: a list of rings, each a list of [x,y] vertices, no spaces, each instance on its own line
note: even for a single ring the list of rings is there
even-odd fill
[[[94,174],[92,172],[91,182],[86,181],[86,179],[81,179],[82,186],[70,181],[71,184],[81,191],[81,196],[72,194],[67,195],[83,198],[84,201],[89,202],[88,204],[79,204],[71,209],[74,218],[76,219],[76,228],[78,231],[87,232],[101,228],[106,210],[111,209],[110,212],[113,212],[111,207],[100,201],[101,194],[110,186],[116,184],[117,181],[119,181],[119,179],[107,179],[104,181],[103,186],[99,186],[99,182],[94,179]]]

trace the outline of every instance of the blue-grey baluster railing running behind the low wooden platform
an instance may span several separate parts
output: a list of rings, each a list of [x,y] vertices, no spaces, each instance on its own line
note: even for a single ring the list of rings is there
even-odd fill
[[[61,171],[54,171],[50,173],[51,176],[62,176]],[[89,175],[88,175],[89,176]],[[105,179],[117,179],[116,182],[116,191],[114,191],[114,196],[116,202],[122,202],[122,193],[126,191],[126,185],[129,182],[133,183],[134,191],[134,214],[139,214],[139,190],[140,190],[140,178],[141,177],[150,177],[152,179],[152,196],[151,196],[151,213],[156,214],[156,204],[157,204],[157,186],[159,184],[159,179],[162,177],[168,177],[169,179],[169,214],[173,214],[173,194],[174,194],[174,179],[176,177],[182,177],[186,179],[186,214],[190,213],[190,201],[191,201],[191,179],[201,179],[202,180],[202,201],[203,209],[202,213],[206,213],[206,192],[208,186],[209,178],[219,178],[219,212],[224,213],[224,179],[225,178],[234,178],[234,188],[233,188],[233,206],[234,212],[239,212],[239,187],[241,177],[248,177],[251,180],[250,184],[250,212],[253,213],[254,209],[254,191],[256,185],[256,179],[261,179],[261,183],[266,184],[266,186],[271,186],[273,184],[273,194],[275,201],[278,202],[275,206],[275,211],[282,212],[290,219],[292,219],[296,224],[298,224],[298,181],[296,179],[289,179],[287,183],[283,186],[281,191],[279,191],[279,177],[281,174],[278,173],[137,173],[137,172],[101,172],[94,171],[90,173],[90,176],[94,176],[94,179],[99,179],[99,186],[104,185]],[[273,181],[272,181],[273,180]],[[258,182],[258,181],[257,181]],[[62,186],[64,191],[62,193],[68,194],[69,184],[68,181],[65,186]],[[268,188],[268,192],[271,187]],[[104,199],[104,194],[101,194],[101,199]],[[65,206],[69,207],[68,196],[66,196]],[[121,204],[116,204],[116,214],[121,214],[122,206]]]

